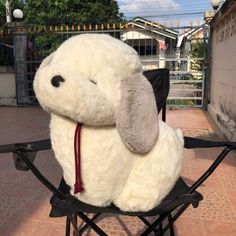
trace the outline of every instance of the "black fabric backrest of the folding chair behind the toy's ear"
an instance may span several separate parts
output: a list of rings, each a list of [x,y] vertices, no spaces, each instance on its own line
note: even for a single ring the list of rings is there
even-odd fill
[[[170,72],[169,69],[154,69],[143,72],[144,76],[152,84],[156,98],[157,110],[165,107],[166,100],[170,90]]]

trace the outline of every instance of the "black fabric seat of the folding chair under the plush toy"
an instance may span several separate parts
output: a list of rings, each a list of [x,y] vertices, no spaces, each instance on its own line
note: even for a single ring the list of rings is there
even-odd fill
[[[109,207],[96,207],[84,202],[79,201],[74,197],[70,197],[70,187],[65,183],[64,179],[61,180],[59,191],[68,196],[68,201],[63,202],[55,194],[51,197],[50,203],[52,210],[51,217],[68,216],[73,212],[86,212],[86,213],[111,213],[129,216],[156,216],[165,212],[172,211],[177,206],[184,203],[191,203],[197,206],[199,201],[203,199],[202,195],[196,191],[188,194],[190,187],[185,184],[182,178],[176,182],[171,192],[163,199],[163,201],[155,208],[147,212],[124,212],[111,205]]]

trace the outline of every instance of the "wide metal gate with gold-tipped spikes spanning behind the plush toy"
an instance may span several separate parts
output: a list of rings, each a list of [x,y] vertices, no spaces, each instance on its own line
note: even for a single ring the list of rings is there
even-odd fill
[[[54,26],[14,31],[18,104],[37,104],[32,84],[40,62],[65,39],[83,33],[106,33],[129,44],[140,55],[144,70],[169,68],[168,106],[204,105],[208,26],[168,28],[142,18],[125,25]]]

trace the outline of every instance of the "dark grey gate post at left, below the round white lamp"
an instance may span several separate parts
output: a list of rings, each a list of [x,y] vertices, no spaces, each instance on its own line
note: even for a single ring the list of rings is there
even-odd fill
[[[14,49],[14,67],[16,78],[16,98],[18,105],[30,103],[28,98],[28,81],[26,65],[27,34],[21,23],[11,26]]]

